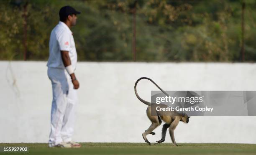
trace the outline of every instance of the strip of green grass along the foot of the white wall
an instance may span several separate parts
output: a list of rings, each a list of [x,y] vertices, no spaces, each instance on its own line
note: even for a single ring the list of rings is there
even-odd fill
[[[255,144],[220,144],[220,143],[170,143],[148,146],[146,143],[81,143],[81,148],[49,148],[46,143],[0,143],[0,147],[29,147],[27,153],[33,155],[168,155],[168,154],[251,154],[256,155]],[[4,153],[5,155],[13,153]]]

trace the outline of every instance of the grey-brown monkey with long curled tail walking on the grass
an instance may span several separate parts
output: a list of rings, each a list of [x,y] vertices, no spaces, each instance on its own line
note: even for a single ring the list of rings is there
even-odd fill
[[[170,111],[170,112],[163,112],[163,111],[156,111],[156,108],[152,108],[152,110],[154,110],[154,113],[156,113],[157,115],[151,115],[151,107],[152,106],[161,106],[161,107],[167,107],[165,104],[155,104],[155,103],[151,103],[151,102],[147,102],[143,99],[141,99],[141,97],[139,97],[138,92],[137,92],[137,84],[138,81],[140,81],[141,79],[147,79],[149,81],[151,81],[157,88],[159,88],[166,96],[169,96],[169,94],[167,94],[163,89],[161,89],[153,80],[147,78],[147,77],[141,77],[140,79],[138,79],[134,85],[134,91],[136,94],[136,97],[143,102],[144,104],[148,105],[147,109],[146,109],[146,114],[148,116],[148,119],[151,121],[151,125],[148,127],[148,129],[142,133],[142,137],[145,140],[145,142],[148,143],[148,145],[151,145],[151,142],[148,141],[147,139],[147,135],[148,134],[152,134],[155,135],[154,132],[152,132],[154,129],[156,129],[156,127],[160,126],[163,120],[165,122],[165,124],[163,125],[162,128],[162,138],[159,141],[156,141],[155,144],[160,144],[162,142],[164,142],[165,140],[165,136],[166,136],[166,132],[167,129],[169,128],[169,134],[172,140],[172,143],[174,146],[178,146],[176,144],[175,138],[174,138],[174,130],[177,127],[177,125],[179,124],[179,122],[184,122],[184,123],[188,123],[189,122],[189,116],[182,112],[179,113],[177,111]]]

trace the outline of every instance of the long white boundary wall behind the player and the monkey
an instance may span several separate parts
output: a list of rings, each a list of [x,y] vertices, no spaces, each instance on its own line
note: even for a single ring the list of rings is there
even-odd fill
[[[45,61],[0,61],[0,143],[47,142],[51,83]],[[153,79],[164,90],[256,90],[256,64],[79,62],[77,142],[144,142],[150,122],[134,94],[135,81]],[[150,101],[150,81],[138,84]],[[161,127],[151,142],[161,139]],[[168,134],[168,133],[167,133]],[[179,123],[176,142],[256,143],[255,116],[192,116]],[[169,135],[166,142],[171,142]]]

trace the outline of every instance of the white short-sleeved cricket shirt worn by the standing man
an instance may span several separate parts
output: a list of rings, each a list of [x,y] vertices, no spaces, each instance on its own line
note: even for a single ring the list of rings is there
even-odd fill
[[[75,70],[77,67],[77,50],[73,33],[65,23],[59,21],[59,24],[51,31],[48,67],[65,69],[61,59],[61,51],[69,51],[71,65]]]

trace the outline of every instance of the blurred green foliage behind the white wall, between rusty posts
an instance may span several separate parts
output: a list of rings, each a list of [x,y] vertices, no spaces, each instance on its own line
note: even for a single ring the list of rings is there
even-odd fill
[[[20,2],[20,3],[19,3]],[[80,61],[132,61],[134,0],[28,1],[28,60],[47,60],[58,12],[82,12],[74,34]],[[138,0],[137,61],[240,61],[242,0]],[[23,5],[0,5],[0,59],[23,59]],[[246,0],[245,59],[256,60],[256,0]]]

